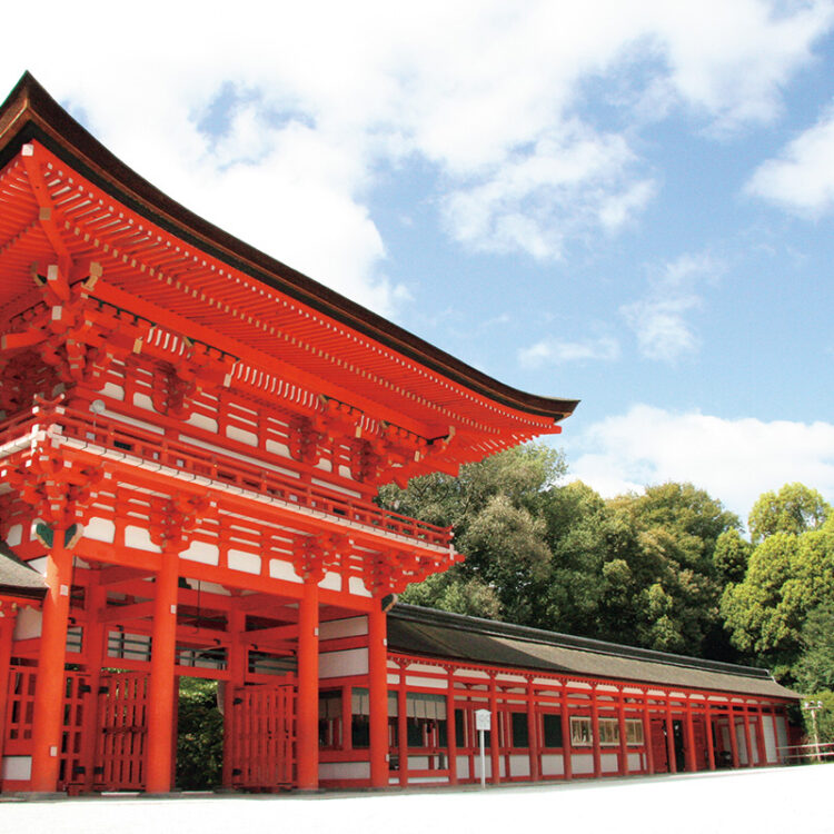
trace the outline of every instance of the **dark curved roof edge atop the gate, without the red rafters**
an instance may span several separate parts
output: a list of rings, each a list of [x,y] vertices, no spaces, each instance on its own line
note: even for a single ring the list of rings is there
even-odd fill
[[[492,403],[538,418],[530,436],[548,430],[543,418],[558,421],[578,404],[504,385],[198,217],[115,157],[27,72],[0,106],[0,167],[32,140],[112,199],[200,252]]]

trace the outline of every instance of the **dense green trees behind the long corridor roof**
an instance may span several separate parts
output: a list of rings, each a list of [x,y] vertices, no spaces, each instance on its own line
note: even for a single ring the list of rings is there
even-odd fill
[[[405,602],[772,668],[834,699],[834,514],[814,489],[764,493],[739,519],[692,484],[605,500],[527,445],[380,502],[454,525],[466,562]],[[832,701],[834,706],[834,701]],[[823,738],[834,716],[821,717]]]

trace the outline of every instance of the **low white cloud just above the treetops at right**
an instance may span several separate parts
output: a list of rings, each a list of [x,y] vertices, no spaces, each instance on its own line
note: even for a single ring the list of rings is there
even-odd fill
[[[756,498],[802,481],[834,502],[834,424],[673,414],[646,405],[567,438],[570,473],[610,497],[692,481],[745,520]]]

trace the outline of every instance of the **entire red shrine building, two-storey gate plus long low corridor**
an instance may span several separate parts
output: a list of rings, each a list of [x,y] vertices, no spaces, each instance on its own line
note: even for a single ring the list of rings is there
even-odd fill
[[[515,390],[222,232],[26,75],[0,107],[0,788],[173,787],[178,681],[224,785],[773,764],[757,669],[394,605],[463,556],[380,484],[559,431]],[[388,610],[390,609],[390,610]]]

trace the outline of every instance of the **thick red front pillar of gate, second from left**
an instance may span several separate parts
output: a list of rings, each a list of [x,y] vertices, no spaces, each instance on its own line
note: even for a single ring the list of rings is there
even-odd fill
[[[171,790],[177,649],[177,582],[179,556],[162,553],[155,583],[153,632],[150,644],[150,683],[148,686],[148,752],[145,791],[166,794]]]

